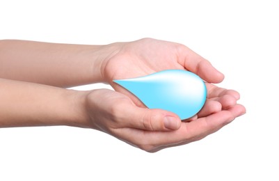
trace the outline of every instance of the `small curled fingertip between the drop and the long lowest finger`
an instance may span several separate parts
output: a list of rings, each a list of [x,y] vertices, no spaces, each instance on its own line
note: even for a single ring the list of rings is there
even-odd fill
[[[222,105],[216,100],[208,100],[205,102],[205,105],[198,112],[198,118],[209,116],[212,113],[217,113],[222,110]]]

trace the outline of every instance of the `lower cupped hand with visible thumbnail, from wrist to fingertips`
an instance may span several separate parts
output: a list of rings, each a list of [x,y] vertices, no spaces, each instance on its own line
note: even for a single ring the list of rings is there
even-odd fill
[[[212,84],[207,84],[207,90],[209,100],[221,103],[215,107],[206,103],[195,118],[186,122],[181,122],[178,116],[168,111],[137,107],[122,93],[95,90],[86,96],[88,125],[148,152],[191,143],[216,132],[245,113],[240,104],[228,102],[230,96],[239,96],[236,92]]]

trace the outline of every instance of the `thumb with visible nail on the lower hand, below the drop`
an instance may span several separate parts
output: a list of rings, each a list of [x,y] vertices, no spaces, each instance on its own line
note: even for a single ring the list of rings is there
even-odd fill
[[[181,120],[175,113],[162,109],[136,107],[129,111],[128,117],[129,127],[148,131],[172,131],[181,125]]]

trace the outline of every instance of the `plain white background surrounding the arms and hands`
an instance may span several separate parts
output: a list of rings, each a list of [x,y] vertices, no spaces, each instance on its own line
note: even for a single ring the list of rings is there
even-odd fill
[[[279,180],[278,9],[255,0],[0,0],[0,39],[180,42],[221,70],[220,86],[239,91],[247,109],[201,141],[153,154],[92,129],[0,129],[0,180]]]

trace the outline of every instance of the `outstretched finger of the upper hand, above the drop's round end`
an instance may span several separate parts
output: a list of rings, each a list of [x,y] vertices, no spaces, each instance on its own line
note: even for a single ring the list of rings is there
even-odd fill
[[[188,47],[181,45],[179,48],[179,63],[202,79],[211,83],[219,83],[223,81],[224,75],[216,70],[209,61],[202,56],[196,54]]]

